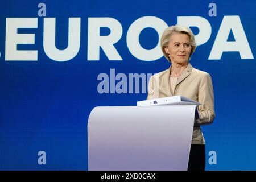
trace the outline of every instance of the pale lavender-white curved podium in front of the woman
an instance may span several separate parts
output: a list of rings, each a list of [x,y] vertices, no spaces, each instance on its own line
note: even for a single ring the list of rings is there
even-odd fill
[[[196,105],[94,107],[89,171],[186,171]]]

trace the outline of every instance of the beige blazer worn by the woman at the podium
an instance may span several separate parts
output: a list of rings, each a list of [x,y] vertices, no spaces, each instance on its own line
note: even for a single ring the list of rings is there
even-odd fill
[[[210,124],[215,118],[212,78],[209,73],[195,69],[188,63],[187,68],[177,79],[172,93],[170,71],[171,67],[151,76],[147,100],[180,95],[201,102],[202,105],[197,106],[199,119],[194,123],[192,144],[205,144],[200,125]]]

